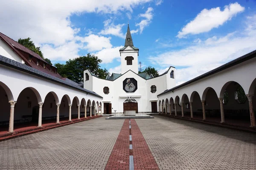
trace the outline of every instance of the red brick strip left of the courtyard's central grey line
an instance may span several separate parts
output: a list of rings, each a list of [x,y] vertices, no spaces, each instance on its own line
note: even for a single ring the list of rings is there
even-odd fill
[[[125,119],[105,170],[129,170],[129,120]]]

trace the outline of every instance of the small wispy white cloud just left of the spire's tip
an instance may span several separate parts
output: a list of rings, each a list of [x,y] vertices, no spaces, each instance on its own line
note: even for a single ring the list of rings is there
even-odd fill
[[[111,19],[105,20],[104,21],[104,30],[99,32],[99,34],[102,35],[115,35],[121,38],[125,38],[125,34],[122,33],[122,27],[125,26],[125,24],[118,24],[114,25],[112,23]]]

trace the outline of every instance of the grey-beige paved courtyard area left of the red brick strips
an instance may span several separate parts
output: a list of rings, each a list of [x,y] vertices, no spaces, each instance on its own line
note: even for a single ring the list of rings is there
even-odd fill
[[[104,170],[124,120],[104,117],[0,142],[0,170]]]

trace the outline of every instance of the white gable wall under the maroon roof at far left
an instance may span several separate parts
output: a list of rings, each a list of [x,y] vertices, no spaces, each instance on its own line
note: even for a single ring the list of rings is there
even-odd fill
[[[3,40],[0,39],[0,55],[15,60],[19,63],[25,63]]]

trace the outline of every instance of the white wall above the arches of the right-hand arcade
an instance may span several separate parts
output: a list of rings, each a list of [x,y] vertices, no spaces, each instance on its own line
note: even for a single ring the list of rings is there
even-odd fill
[[[256,58],[252,58],[248,61],[237,64],[236,66],[225,69],[214,75],[208,76],[199,81],[183,86],[179,89],[175,89],[173,92],[168,92],[164,95],[161,95],[159,96],[158,102],[162,101],[163,99],[166,100],[166,98],[168,98],[168,100],[170,98],[175,99],[176,96],[179,96],[181,99],[183,94],[186,94],[189,97],[189,101],[191,101],[191,94],[194,91],[198,92],[198,94],[200,95],[200,100],[202,100],[202,98],[203,100],[205,100],[206,92],[204,91],[208,87],[212,87],[215,90],[217,97],[220,98],[223,97],[224,94],[223,92],[221,93],[221,89],[223,88],[224,84],[230,81],[235,81],[239,83],[243,87],[244,92],[247,95],[249,94],[249,89],[252,82],[256,78],[255,72]]]

